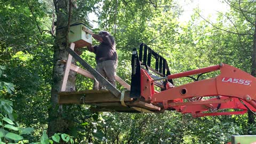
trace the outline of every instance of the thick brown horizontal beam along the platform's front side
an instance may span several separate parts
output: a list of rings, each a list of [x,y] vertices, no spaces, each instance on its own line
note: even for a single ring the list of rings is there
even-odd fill
[[[82,99],[81,99],[82,98]],[[124,101],[132,101],[130,98],[130,91],[125,91]],[[108,90],[85,90],[79,92],[60,92],[58,97],[58,103],[60,104],[90,104],[90,103],[99,103],[99,102],[120,102],[119,98],[116,98]]]

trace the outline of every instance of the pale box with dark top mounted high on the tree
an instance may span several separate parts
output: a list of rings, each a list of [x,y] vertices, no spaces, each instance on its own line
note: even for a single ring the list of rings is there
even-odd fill
[[[69,43],[75,43],[76,47],[85,47],[92,44],[92,26],[85,25],[84,22],[73,22],[68,33]]]

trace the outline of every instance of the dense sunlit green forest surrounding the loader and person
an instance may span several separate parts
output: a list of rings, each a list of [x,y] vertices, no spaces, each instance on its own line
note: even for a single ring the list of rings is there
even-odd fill
[[[175,111],[92,113],[89,106],[57,104],[64,69],[58,60],[67,59],[69,24],[89,21],[90,12],[98,17],[93,31],[108,30],[115,37],[117,75],[127,83],[131,50],[142,42],[166,58],[172,74],[223,62],[256,76],[256,3],[223,3],[230,9],[214,19],[194,9],[191,20],[180,23],[178,1],[0,0],[2,142],[226,143],[233,134],[256,134],[251,113],[193,118]],[[95,67],[93,53],[82,49],[81,57]],[[174,84],[188,82],[181,78]],[[68,89],[92,89],[92,84],[71,73]]]

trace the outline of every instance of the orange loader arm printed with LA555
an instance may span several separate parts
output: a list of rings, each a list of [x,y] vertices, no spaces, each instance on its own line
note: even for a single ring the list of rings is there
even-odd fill
[[[191,113],[195,117],[244,114],[247,109],[256,111],[256,78],[230,65],[221,63],[168,75],[166,78],[174,79],[216,70],[220,70],[217,77],[156,92],[156,79],[141,69],[141,97],[150,103],[162,103],[164,109],[173,108],[181,113]]]

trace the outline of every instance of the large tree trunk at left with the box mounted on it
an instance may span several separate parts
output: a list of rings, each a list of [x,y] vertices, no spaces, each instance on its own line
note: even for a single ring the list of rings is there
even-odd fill
[[[71,114],[71,111],[67,110],[67,106],[58,105],[58,92],[60,92],[62,77],[65,71],[65,65],[58,62],[58,60],[67,60],[68,53],[66,47],[68,47],[68,20],[69,20],[69,0],[53,0],[55,5],[55,11],[57,14],[56,22],[56,34],[55,45],[53,54],[53,74],[52,74],[52,89],[51,89],[51,107],[49,108],[49,123],[47,133],[49,137],[54,133],[69,133],[72,121],[67,115]],[[71,9],[71,7],[70,7]],[[74,59],[72,61],[75,62]],[[69,72],[66,91],[75,91],[75,73]],[[65,113],[65,117],[62,115]]]

